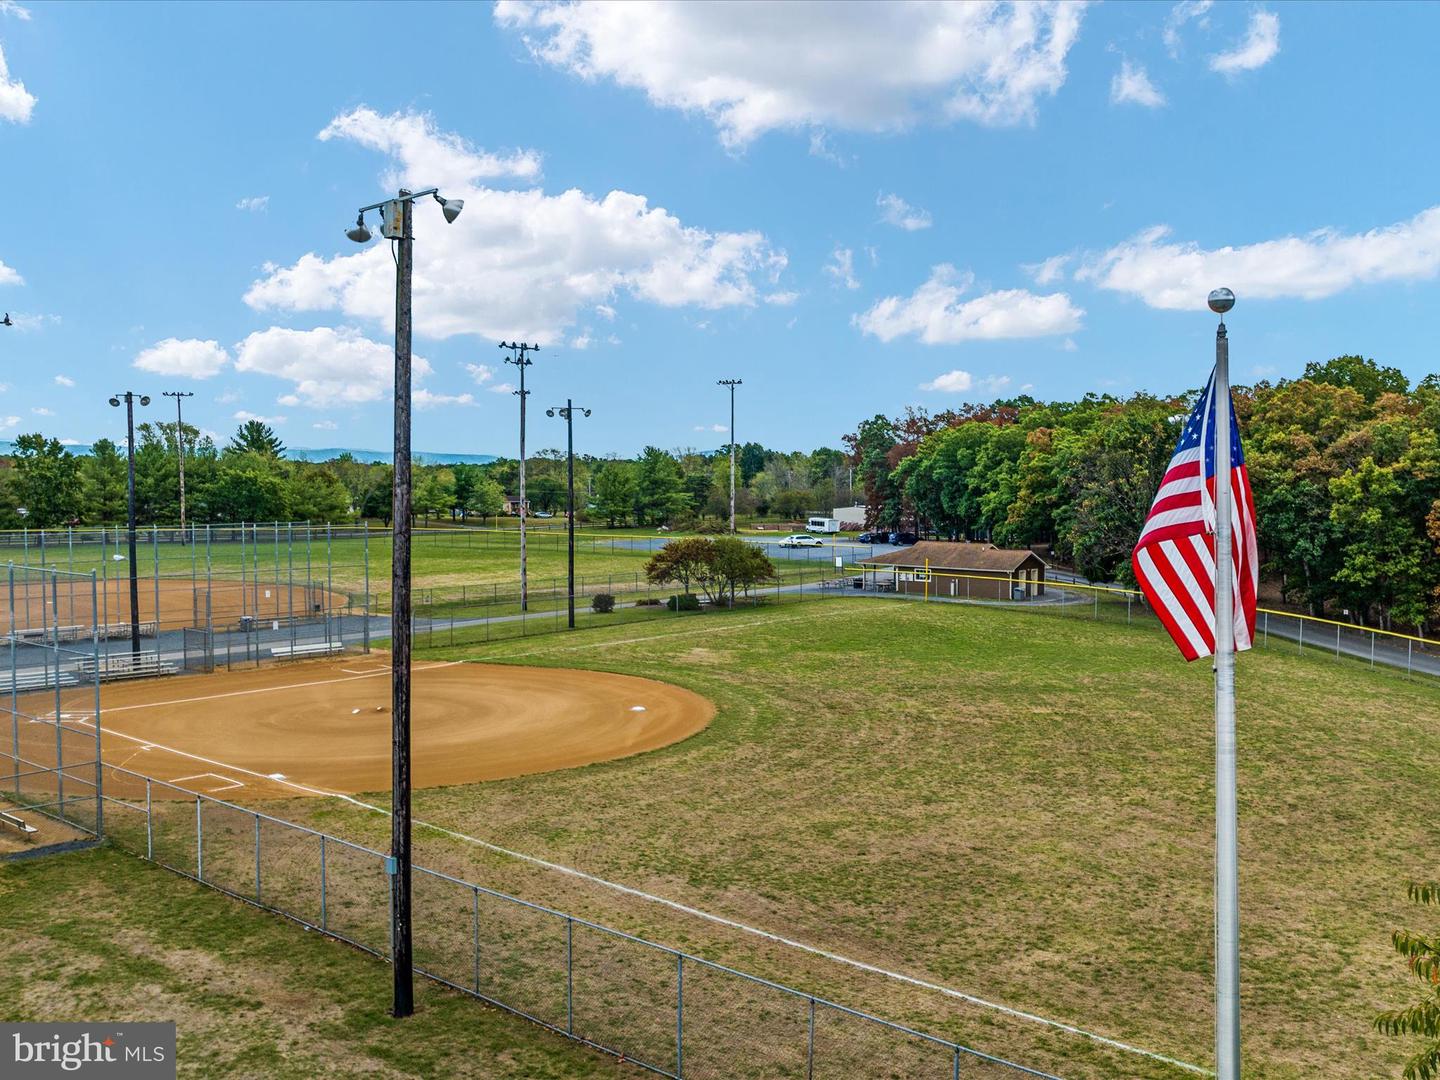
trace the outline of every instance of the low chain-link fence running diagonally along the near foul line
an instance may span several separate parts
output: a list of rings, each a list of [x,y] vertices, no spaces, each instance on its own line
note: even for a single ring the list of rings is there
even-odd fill
[[[390,861],[360,844],[105,766],[131,854],[390,959]],[[660,1076],[1001,1080],[1048,1073],[416,867],[416,973]]]

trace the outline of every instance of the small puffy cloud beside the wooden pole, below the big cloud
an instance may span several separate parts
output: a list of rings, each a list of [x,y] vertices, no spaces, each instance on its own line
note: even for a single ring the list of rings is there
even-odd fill
[[[288,379],[294,393],[284,400],[312,408],[382,400],[395,384],[395,348],[372,341],[353,327],[288,330],[271,327],[246,337],[235,350],[235,370]],[[412,359],[416,380],[431,366]]]

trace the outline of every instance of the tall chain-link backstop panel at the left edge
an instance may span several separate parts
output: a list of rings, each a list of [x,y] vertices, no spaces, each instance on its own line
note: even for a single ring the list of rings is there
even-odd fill
[[[0,694],[0,814],[29,828],[40,814],[82,834],[104,832],[99,681],[94,573],[10,564],[3,648],[10,672]],[[27,625],[19,618],[29,611]]]

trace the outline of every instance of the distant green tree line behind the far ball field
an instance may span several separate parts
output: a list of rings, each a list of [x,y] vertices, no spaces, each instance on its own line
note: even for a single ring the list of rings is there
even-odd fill
[[[186,520],[389,523],[393,469],[350,454],[325,462],[291,461],[275,432],[259,420],[242,423],[223,446],[186,425]],[[576,508],[580,518],[621,526],[670,526],[719,531],[729,520],[729,448],[664,451],[647,446],[635,459],[577,456]],[[749,442],[736,448],[736,511],[805,517],[850,500],[850,464],[832,448],[780,452]],[[566,462],[560,451],[540,451],[526,462],[531,513],[557,514],[566,505]],[[416,465],[412,505],[422,521],[465,521],[503,513],[520,491],[520,462]],[[0,528],[55,528],[125,521],[125,451],[99,439],[75,454],[42,433],[22,435],[0,458]],[[135,429],[135,514],[143,526],[180,520],[177,428],[141,423]]]

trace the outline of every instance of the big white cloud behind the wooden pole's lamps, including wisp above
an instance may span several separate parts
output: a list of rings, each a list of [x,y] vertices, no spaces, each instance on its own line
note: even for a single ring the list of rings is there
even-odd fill
[[[372,127],[400,128],[406,137],[372,138]],[[452,177],[477,173],[469,151],[458,150],[455,137],[435,132],[429,121],[360,109],[325,131],[396,154],[400,183],[431,183],[446,170]],[[442,164],[432,164],[436,160]],[[465,199],[465,212],[449,226],[438,213],[433,220],[426,215],[415,266],[415,302],[423,310],[416,330],[435,338],[523,336],[550,344],[562,340],[582,308],[609,305],[622,292],[662,307],[752,305],[755,279],[773,284],[786,262],[759,232],[687,226],[628,192],[596,199],[573,189],[550,196],[462,179],[442,183],[448,196]],[[310,253],[291,266],[268,265],[245,301],[258,310],[340,311],[389,327],[395,264],[384,243],[336,258]],[[521,323],[517,312],[524,312]]]

